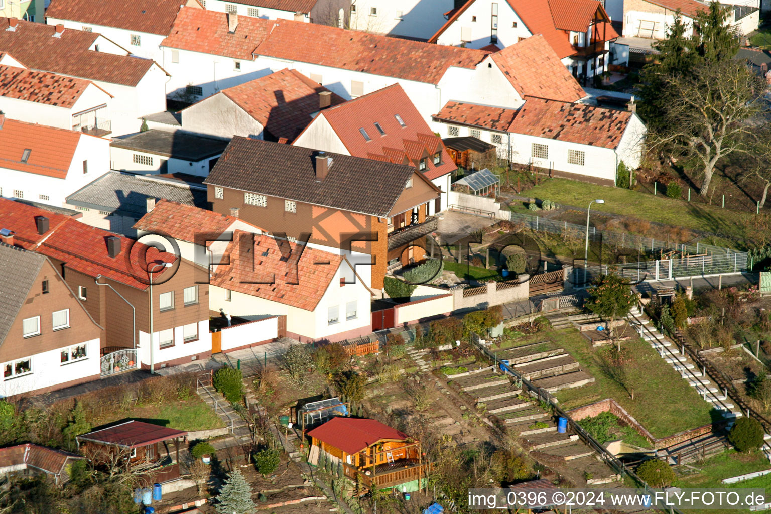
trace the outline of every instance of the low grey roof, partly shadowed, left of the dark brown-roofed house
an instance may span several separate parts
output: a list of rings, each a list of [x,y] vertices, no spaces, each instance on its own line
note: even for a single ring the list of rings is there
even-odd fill
[[[140,218],[148,198],[165,198],[203,209],[208,207],[206,186],[158,176],[110,171],[67,197],[69,205]]]

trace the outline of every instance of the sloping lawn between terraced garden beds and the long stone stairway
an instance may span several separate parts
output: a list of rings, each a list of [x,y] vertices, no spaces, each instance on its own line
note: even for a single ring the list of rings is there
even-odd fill
[[[641,340],[623,341],[628,364],[628,381],[634,385],[635,399],[611,378],[603,355],[608,348],[592,348],[586,338],[573,328],[549,329],[522,338],[518,345],[550,339],[581,363],[581,369],[594,376],[594,383],[580,388],[563,389],[555,396],[565,410],[604,398],[614,398],[656,438],[662,438],[712,421],[712,405],[702,400],[662,358]],[[665,391],[665,393],[664,393]]]

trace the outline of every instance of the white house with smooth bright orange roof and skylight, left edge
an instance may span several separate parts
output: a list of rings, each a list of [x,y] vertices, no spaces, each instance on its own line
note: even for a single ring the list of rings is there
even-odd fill
[[[109,171],[109,139],[25,123],[0,113],[0,197],[62,207]]]

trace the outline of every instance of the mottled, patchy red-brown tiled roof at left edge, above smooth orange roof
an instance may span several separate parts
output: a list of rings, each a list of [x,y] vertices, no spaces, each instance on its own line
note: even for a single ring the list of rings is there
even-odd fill
[[[48,72],[0,66],[0,96],[71,108],[91,82]]]

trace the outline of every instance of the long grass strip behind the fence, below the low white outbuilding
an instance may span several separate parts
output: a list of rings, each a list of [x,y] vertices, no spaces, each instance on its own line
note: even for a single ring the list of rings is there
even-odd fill
[[[583,208],[586,208],[591,200],[601,198],[605,203],[593,203],[592,211],[703,230],[732,240],[741,238],[740,227],[754,215],[684,200],[672,200],[664,195],[653,196],[620,187],[594,186],[567,179],[550,179],[522,194],[540,200],[552,200],[557,205]],[[520,208],[515,207],[513,210],[520,211]]]

